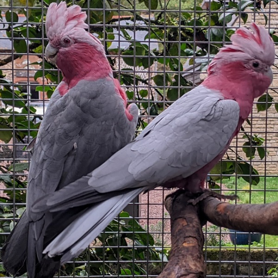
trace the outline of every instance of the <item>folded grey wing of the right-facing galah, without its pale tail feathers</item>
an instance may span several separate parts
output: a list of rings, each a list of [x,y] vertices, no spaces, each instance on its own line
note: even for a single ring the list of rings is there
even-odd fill
[[[103,201],[121,190],[187,177],[225,150],[239,106],[202,86],[184,95],[91,174],[34,204],[33,213]]]

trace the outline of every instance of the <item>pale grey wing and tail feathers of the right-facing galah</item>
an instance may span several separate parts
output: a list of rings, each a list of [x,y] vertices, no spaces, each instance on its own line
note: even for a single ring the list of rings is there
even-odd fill
[[[91,174],[33,205],[34,216],[92,206],[44,253],[62,255],[62,262],[78,255],[137,194],[189,177],[225,151],[238,122],[235,101],[202,86],[187,93]]]

